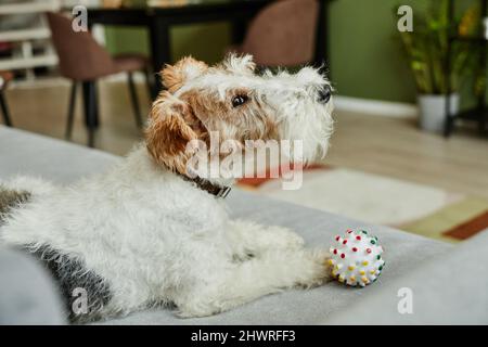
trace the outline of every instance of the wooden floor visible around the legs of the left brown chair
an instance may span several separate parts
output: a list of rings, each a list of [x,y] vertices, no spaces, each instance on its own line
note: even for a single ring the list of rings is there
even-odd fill
[[[124,78],[125,76],[118,76]],[[120,79],[118,78],[118,79]],[[63,79],[41,81],[40,86],[21,85],[7,91],[12,121],[20,129],[64,139],[69,83]],[[61,85],[61,86],[60,86]],[[81,88],[76,99],[75,124],[72,141],[87,143],[82,118]],[[129,99],[129,88],[124,81],[104,80],[99,85],[100,129],[97,147],[118,155],[126,154],[142,139],[136,126],[136,117]],[[138,83],[138,95],[142,115],[146,115],[150,99],[144,83]]]

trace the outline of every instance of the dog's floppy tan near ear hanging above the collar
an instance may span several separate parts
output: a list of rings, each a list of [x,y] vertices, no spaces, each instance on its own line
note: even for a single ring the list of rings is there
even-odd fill
[[[187,162],[192,155],[187,144],[198,139],[191,126],[193,118],[188,104],[168,91],[160,92],[152,105],[145,129],[147,151],[157,164],[185,174]]]

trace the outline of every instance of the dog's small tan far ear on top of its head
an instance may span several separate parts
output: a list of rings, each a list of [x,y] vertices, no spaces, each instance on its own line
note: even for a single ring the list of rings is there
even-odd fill
[[[208,66],[204,62],[194,60],[191,56],[185,56],[175,65],[166,64],[160,72],[160,77],[166,89],[174,93],[180,89],[185,81],[202,75],[207,68]]]

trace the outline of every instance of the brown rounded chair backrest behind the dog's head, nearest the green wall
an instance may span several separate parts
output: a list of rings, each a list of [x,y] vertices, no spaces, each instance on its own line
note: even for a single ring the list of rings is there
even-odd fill
[[[242,51],[253,54],[258,65],[295,66],[310,62],[318,10],[317,0],[271,3],[251,23]]]

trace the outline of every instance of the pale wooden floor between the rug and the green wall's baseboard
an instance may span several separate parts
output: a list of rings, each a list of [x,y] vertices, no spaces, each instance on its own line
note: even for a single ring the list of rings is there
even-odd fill
[[[488,196],[488,139],[474,129],[446,140],[414,119],[341,114],[326,162],[450,192]]]

